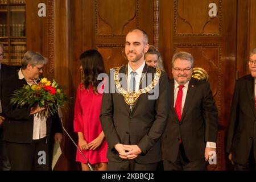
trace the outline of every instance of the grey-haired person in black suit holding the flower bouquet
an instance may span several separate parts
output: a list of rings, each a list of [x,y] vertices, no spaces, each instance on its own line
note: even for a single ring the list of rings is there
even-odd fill
[[[47,59],[40,53],[27,51],[19,72],[3,81],[3,139],[12,170],[49,170],[52,155],[50,144],[53,138],[59,142],[62,139],[61,123],[56,114],[47,119],[38,114],[45,108],[34,106],[28,110],[27,107],[10,105],[14,90],[38,81],[46,63]]]

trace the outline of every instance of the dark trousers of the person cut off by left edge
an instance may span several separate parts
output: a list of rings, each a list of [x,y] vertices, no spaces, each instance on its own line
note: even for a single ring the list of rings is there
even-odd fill
[[[6,143],[3,140],[3,128],[0,127],[0,171],[10,171],[11,166],[6,152]]]

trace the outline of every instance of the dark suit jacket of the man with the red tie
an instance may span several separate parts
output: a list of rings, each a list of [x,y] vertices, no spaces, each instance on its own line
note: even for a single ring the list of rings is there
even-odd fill
[[[162,137],[163,159],[175,162],[180,137],[189,161],[204,158],[206,142],[216,142],[218,111],[208,82],[191,78],[181,121],[174,109],[174,79],[170,80],[170,117]]]

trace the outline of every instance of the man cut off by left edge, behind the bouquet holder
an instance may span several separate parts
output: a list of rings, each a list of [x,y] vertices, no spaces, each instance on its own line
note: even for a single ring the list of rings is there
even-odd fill
[[[2,64],[4,54],[5,47],[3,47],[3,44],[0,43],[0,98],[3,80],[16,72],[14,67]],[[0,171],[9,171],[11,167],[6,154],[5,142],[3,141],[3,121],[5,121],[5,118],[2,116],[2,104],[0,99]]]

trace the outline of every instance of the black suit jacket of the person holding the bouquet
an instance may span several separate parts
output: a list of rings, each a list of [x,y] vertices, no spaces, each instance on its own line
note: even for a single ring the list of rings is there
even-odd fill
[[[19,80],[18,73],[3,81],[2,106],[3,114],[6,117],[3,123],[3,139],[7,142],[31,143],[34,125],[34,115],[30,115],[27,107],[17,109],[11,106],[10,97],[14,90],[27,84],[23,78]],[[47,140],[53,138],[53,134],[62,133],[60,119],[57,114],[47,119]]]

